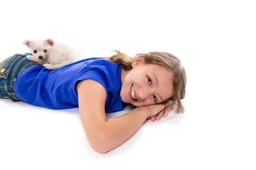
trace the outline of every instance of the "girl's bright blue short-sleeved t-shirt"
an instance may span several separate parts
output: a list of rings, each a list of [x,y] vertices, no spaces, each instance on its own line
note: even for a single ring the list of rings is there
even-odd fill
[[[31,105],[49,109],[78,107],[78,93],[75,85],[79,80],[93,79],[107,92],[105,112],[120,111],[128,105],[122,102],[121,69],[103,57],[83,59],[56,70],[42,65],[26,69],[16,79],[14,91],[17,97]]]

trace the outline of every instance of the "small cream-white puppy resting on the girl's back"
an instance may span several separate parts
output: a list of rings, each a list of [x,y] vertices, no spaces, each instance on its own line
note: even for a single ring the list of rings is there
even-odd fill
[[[38,62],[47,69],[54,70],[79,60],[73,49],[65,44],[55,43],[52,39],[26,40],[22,44],[27,45],[33,54],[28,55],[27,59]]]

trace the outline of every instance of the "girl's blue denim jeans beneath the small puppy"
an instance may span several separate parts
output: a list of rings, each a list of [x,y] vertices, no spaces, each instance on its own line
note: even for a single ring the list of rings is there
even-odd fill
[[[26,58],[30,53],[15,54],[0,62],[0,98],[10,98],[12,101],[21,101],[13,89],[15,80],[27,68],[40,65]]]

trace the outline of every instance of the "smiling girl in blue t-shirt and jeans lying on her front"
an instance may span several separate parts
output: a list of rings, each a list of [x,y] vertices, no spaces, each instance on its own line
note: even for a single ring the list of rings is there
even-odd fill
[[[166,52],[137,54],[116,51],[108,58],[89,58],[56,70],[15,54],[0,62],[0,97],[49,109],[79,106],[91,147],[106,153],[125,142],[148,118],[166,117],[173,105],[183,111],[186,71]],[[107,112],[128,104],[134,110],[112,119]]]

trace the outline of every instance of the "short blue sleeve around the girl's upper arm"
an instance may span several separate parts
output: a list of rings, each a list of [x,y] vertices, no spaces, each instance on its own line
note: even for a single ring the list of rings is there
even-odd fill
[[[105,88],[106,93],[107,93],[107,98],[106,98],[106,102],[105,102],[105,106],[106,106],[108,103],[108,100],[109,100],[109,95],[108,95],[108,88],[107,88],[107,83],[106,83],[106,79],[105,79],[105,74],[99,70],[86,71],[84,74],[82,74],[81,76],[79,76],[76,79],[74,87],[76,87],[76,83],[79,80],[85,80],[85,79],[93,79],[93,80],[99,82]]]

